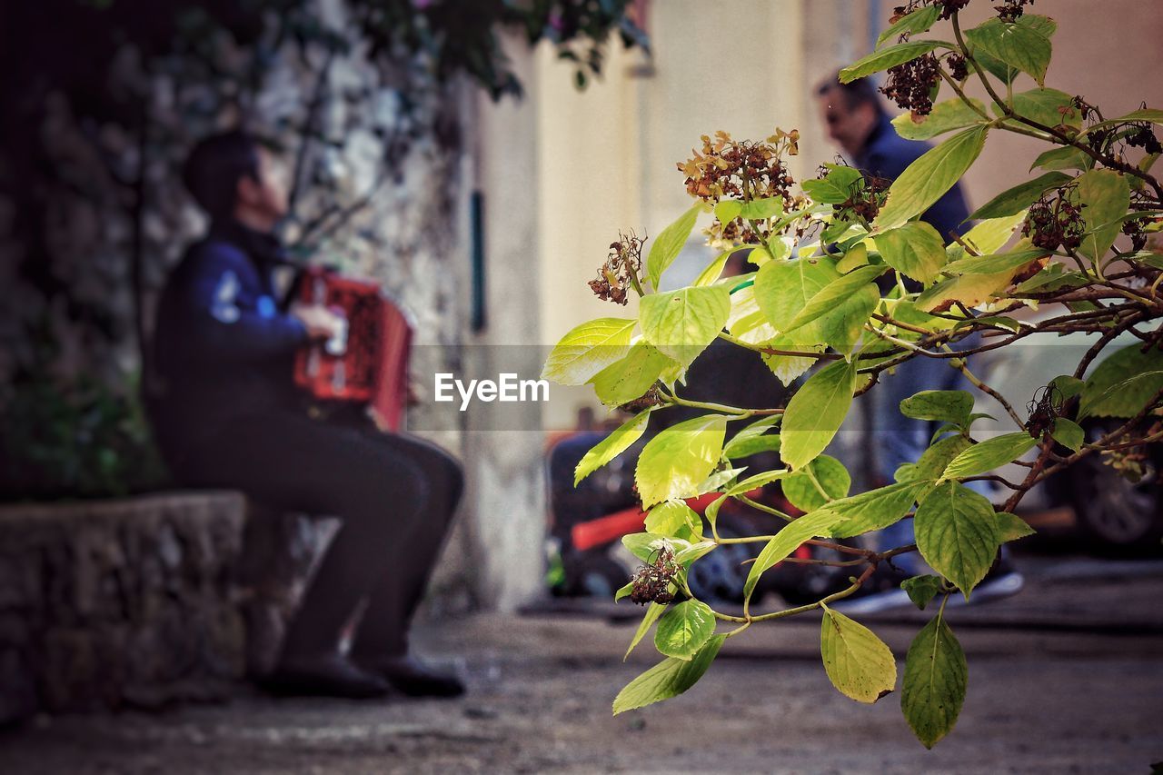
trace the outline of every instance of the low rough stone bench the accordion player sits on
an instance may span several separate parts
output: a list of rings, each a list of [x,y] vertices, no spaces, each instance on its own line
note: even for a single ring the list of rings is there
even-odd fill
[[[0,724],[224,698],[269,669],[329,526],[247,509],[233,492],[0,506]]]

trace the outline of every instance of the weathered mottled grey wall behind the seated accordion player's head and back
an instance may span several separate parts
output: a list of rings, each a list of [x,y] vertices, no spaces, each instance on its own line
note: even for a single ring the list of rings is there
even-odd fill
[[[333,27],[348,28],[341,3],[321,0],[321,7]],[[526,47],[513,45],[511,56],[522,74],[533,76],[520,64],[529,62]],[[131,56],[124,72],[127,80],[141,78]],[[47,303],[19,276],[16,266],[29,255],[14,234],[10,202],[0,200],[0,306],[7,311],[0,319],[0,378],[28,354],[23,326],[48,311],[63,347],[62,371],[128,385],[140,368],[130,293],[133,197],[114,173],[130,182],[138,169],[144,173],[141,223],[151,318],[166,271],[205,228],[181,187],[180,163],[198,137],[238,121],[280,138],[297,170],[298,195],[284,234],[293,250],[380,280],[413,314],[416,357],[427,361],[416,364],[416,372],[430,372],[433,362],[458,371],[466,357],[468,197],[473,187],[488,189],[490,277],[518,269],[536,276],[529,265],[535,215],[506,208],[535,190],[531,100],[495,106],[465,83],[434,87],[416,63],[369,65],[358,43],[334,57],[321,49],[305,58],[291,47],[278,51],[254,99],[216,101],[221,95],[205,85],[166,76],[154,78],[148,91],[144,157],[137,137],[81,126],[59,101],[43,128],[51,173],[35,182],[48,202],[35,228],[47,251],[31,259],[50,284],[70,289],[88,312],[71,317],[59,299]],[[206,105],[219,108],[200,113]],[[301,148],[300,135],[288,128],[305,123],[313,140]],[[470,147],[475,133],[487,140]],[[495,284],[488,293],[492,319],[471,343],[535,342],[537,306],[509,304]],[[110,321],[105,334],[93,326],[98,314]],[[416,392],[430,398],[431,385],[418,385]],[[430,410],[427,403],[413,407],[411,427],[462,458],[471,486],[434,578],[435,610],[511,610],[536,593],[542,574],[540,436],[529,433],[513,443],[484,434],[470,442],[465,428],[487,428],[487,418]]]

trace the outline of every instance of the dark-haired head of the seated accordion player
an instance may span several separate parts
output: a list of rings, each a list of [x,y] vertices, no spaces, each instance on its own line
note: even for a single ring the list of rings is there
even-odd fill
[[[257,232],[271,232],[287,213],[281,165],[245,131],[227,131],[199,142],[186,159],[183,179],[214,220],[236,220]]]

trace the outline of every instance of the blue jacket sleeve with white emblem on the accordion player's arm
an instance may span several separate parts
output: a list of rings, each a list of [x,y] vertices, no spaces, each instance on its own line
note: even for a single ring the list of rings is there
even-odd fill
[[[199,360],[265,360],[307,341],[306,327],[261,293],[254,268],[234,250],[204,247],[177,301],[184,335]]]

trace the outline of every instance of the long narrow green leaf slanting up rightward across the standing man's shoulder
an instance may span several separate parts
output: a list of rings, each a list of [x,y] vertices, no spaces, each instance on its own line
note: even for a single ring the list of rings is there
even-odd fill
[[[986,127],[966,129],[909,164],[889,187],[889,199],[877,216],[877,230],[902,226],[933,206],[973,164],[987,134]]]

